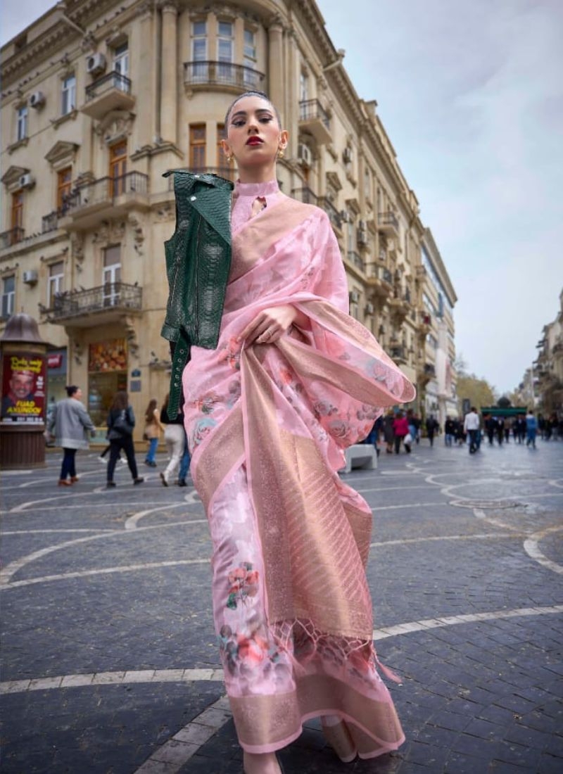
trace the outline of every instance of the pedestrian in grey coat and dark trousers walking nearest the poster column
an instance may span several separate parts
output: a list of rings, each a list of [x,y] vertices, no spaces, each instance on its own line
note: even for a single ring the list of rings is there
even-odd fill
[[[55,437],[55,444],[62,447],[64,452],[59,486],[72,486],[78,481],[75,459],[77,450],[88,449],[88,433],[93,435],[96,428],[81,403],[81,388],[69,385],[65,389],[67,397],[53,407],[48,433]]]

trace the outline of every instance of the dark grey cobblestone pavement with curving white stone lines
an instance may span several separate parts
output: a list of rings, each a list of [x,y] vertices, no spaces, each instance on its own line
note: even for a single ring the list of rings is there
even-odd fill
[[[163,457],[160,457],[162,469]],[[188,488],[81,454],[2,475],[3,774],[242,774]],[[125,467],[125,470],[123,469]],[[342,764],[316,722],[287,774],[563,771],[563,443],[382,455],[368,576],[407,742]]]

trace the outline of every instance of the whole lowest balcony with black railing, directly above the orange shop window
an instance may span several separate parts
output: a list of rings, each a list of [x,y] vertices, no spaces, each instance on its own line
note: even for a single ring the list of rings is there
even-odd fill
[[[124,314],[139,313],[141,310],[141,287],[108,283],[87,290],[57,293],[53,307],[45,312],[50,323],[89,328],[118,322]]]

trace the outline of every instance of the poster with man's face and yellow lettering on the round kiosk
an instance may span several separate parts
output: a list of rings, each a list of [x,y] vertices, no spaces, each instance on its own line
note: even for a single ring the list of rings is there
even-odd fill
[[[46,364],[43,354],[6,352],[2,369],[2,423],[42,423]]]

